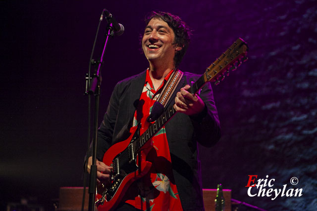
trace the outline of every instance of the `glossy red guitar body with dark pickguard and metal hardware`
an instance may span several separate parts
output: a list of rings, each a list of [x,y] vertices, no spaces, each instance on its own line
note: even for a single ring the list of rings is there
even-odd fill
[[[146,156],[152,148],[152,142],[142,146],[136,157],[133,154],[131,140],[136,137],[138,128],[131,129],[128,139],[112,145],[105,153],[103,162],[113,167],[110,182],[97,187],[96,205],[98,211],[111,211],[122,200],[130,185],[143,177],[151,169],[152,163],[146,161]]]

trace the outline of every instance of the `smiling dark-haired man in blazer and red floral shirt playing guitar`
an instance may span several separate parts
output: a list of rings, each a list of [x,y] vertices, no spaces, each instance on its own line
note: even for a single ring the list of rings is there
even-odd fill
[[[124,182],[114,187],[116,192],[120,192],[122,186],[129,183],[127,178],[142,172],[140,178],[127,185],[127,191],[122,191],[123,197],[116,203],[116,210],[204,210],[198,143],[212,146],[220,138],[220,129],[211,85],[206,84],[199,95],[192,94],[188,84],[195,82],[199,76],[183,73],[177,68],[189,41],[190,30],[178,16],[152,12],[146,18],[142,38],[142,48],[149,61],[148,69],[114,87],[98,131],[98,182],[106,184],[120,178],[119,182]],[[167,100],[160,104],[160,108],[166,110],[173,106],[177,113],[158,129],[157,123],[153,122],[157,117],[151,119],[149,115],[162,113],[154,105],[161,103],[161,95],[166,92],[169,92]],[[154,132],[148,134],[146,129],[151,124]],[[141,136],[137,138],[141,141],[144,137],[148,138],[148,145],[135,150],[138,159],[134,162],[139,169],[121,178],[116,174],[117,167],[107,166],[102,161],[105,153],[116,150],[117,143],[126,142],[125,146],[131,143],[134,148],[138,147],[135,142],[139,139],[129,139],[135,131],[139,131]],[[88,171],[91,163],[92,157],[89,157]]]

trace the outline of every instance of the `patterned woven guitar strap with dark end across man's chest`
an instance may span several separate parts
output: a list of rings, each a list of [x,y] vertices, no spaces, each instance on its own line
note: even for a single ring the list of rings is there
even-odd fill
[[[163,113],[167,102],[170,100],[173,92],[175,91],[177,85],[182,79],[184,73],[180,70],[173,71],[172,75],[169,77],[167,83],[165,84],[163,90],[159,94],[157,101],[154,103],[152,107],[152,111],[150,116],[148,117],[148,122],[156,121],[159,116]]]

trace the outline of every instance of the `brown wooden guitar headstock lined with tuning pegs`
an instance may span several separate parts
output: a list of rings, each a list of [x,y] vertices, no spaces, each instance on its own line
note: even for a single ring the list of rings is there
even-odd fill
[[[234,71],[245,62],[247,58],[248,45],[241,38],[233,42],[233,44],[221,54],[206,69],[204,80],[219,84],[230,71]]]

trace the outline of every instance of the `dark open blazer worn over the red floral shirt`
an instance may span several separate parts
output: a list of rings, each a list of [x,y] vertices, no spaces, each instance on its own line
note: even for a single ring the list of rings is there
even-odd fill
[[[97,159],[102,161],[106,150],[129,136],[129,128],[145,83],[146,71],[125,79],[114,87],[104,121],[98,130]],[[176,90],[199,75],[185,72]],[[169,104],[174,103],[175,91]],[[204,210],[202,179],[197,143],[212,146],[220,138],[217,110],[210,83],[200,93],[205,110],[194,116],[176,113],[165,125],[178,194],[184,210]],[[168,108],[167,105],[165,108]]]

